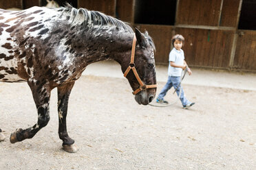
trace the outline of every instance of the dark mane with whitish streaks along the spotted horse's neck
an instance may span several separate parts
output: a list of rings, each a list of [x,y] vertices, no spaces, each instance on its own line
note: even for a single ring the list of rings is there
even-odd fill
[[[83,21],[83,26],[89,25],[91,28],[100,27],[104,25],[109,25],[111,27],[116,27],[118,29],[124,29],[127,32],[134,33],[133,29],[128,25],[112,16],[107,16],[98,11],[91,11],[85,8],[73,8],[72,5],[68,4],[65,7],[59,9],[61,11],[61,16],[65,13],[68,19],[72,22]]]

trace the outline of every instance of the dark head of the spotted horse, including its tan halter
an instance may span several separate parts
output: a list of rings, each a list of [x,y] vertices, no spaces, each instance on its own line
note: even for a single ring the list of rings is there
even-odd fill
[[[156,95],[154,50],[155,46],[147,32],[142,34],[136,29],[131,60],[127,60],[127,63],[122,65],[122,71],[134,90],[138,104],[147,105]]]

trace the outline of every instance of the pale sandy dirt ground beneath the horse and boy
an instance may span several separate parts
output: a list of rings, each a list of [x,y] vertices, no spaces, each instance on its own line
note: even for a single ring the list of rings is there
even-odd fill
[[[159,90],[164,82],[158,83]],[[27,84],[0,84],[0,169],[241,169],[256,168],[256,91],[184,85],[195,101],[167,108],[140,106],[124,78],[82,76],[72,90],[67,128],[79,150],[61,149],[56,89],[51,120],[34,138],[11,144],[17,128],[34,125]],[[171,92],[167,100],[177,97]]]

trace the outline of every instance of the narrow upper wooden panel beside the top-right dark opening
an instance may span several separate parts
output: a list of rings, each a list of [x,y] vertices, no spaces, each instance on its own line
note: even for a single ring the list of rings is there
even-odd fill
[[[222,5],[222,14],[220,26],[236,27],[237,15],[239,11],[239,3],[237,0],[224,0]]]

